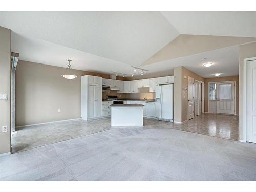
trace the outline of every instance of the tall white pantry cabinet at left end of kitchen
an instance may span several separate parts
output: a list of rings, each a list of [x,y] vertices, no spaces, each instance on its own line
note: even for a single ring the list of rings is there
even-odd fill
[[[102,77],[81,76],[81,117],[84,120],[102,116]]]

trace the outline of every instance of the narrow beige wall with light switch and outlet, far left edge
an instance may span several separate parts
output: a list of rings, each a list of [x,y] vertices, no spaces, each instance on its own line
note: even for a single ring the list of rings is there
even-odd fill
[[[11,151],[11,30],[0,27],[0,93],[8,100],[0,100],[0,154]],[[8,125],[8,132],[2,126]]]

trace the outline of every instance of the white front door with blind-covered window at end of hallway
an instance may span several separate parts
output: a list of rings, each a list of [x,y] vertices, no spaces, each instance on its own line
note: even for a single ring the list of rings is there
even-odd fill
[[[234,82],[218,82],[216,112],[234,114]]]

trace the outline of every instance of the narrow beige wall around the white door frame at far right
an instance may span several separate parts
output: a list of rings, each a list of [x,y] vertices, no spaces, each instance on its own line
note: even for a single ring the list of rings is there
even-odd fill
[[[243,78],[244,59],[256,57],[256,42],[240,46],[239,50],[239,139],[243,140]]]

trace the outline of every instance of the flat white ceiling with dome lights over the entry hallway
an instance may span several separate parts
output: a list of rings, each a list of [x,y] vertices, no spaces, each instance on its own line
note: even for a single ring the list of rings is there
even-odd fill
[[[206,58],[206,60],[202,61],[202,58]],[[205,62],[212,62],[214,65],[206,68],[203,66]],[[214,74],[216,73],[221,73],[222,77],[238,75],[239,46],[153,63],[145,66],[145,68],[150,71],[160,72],[178,66],[184,66],[204,78],[215,77]]]

